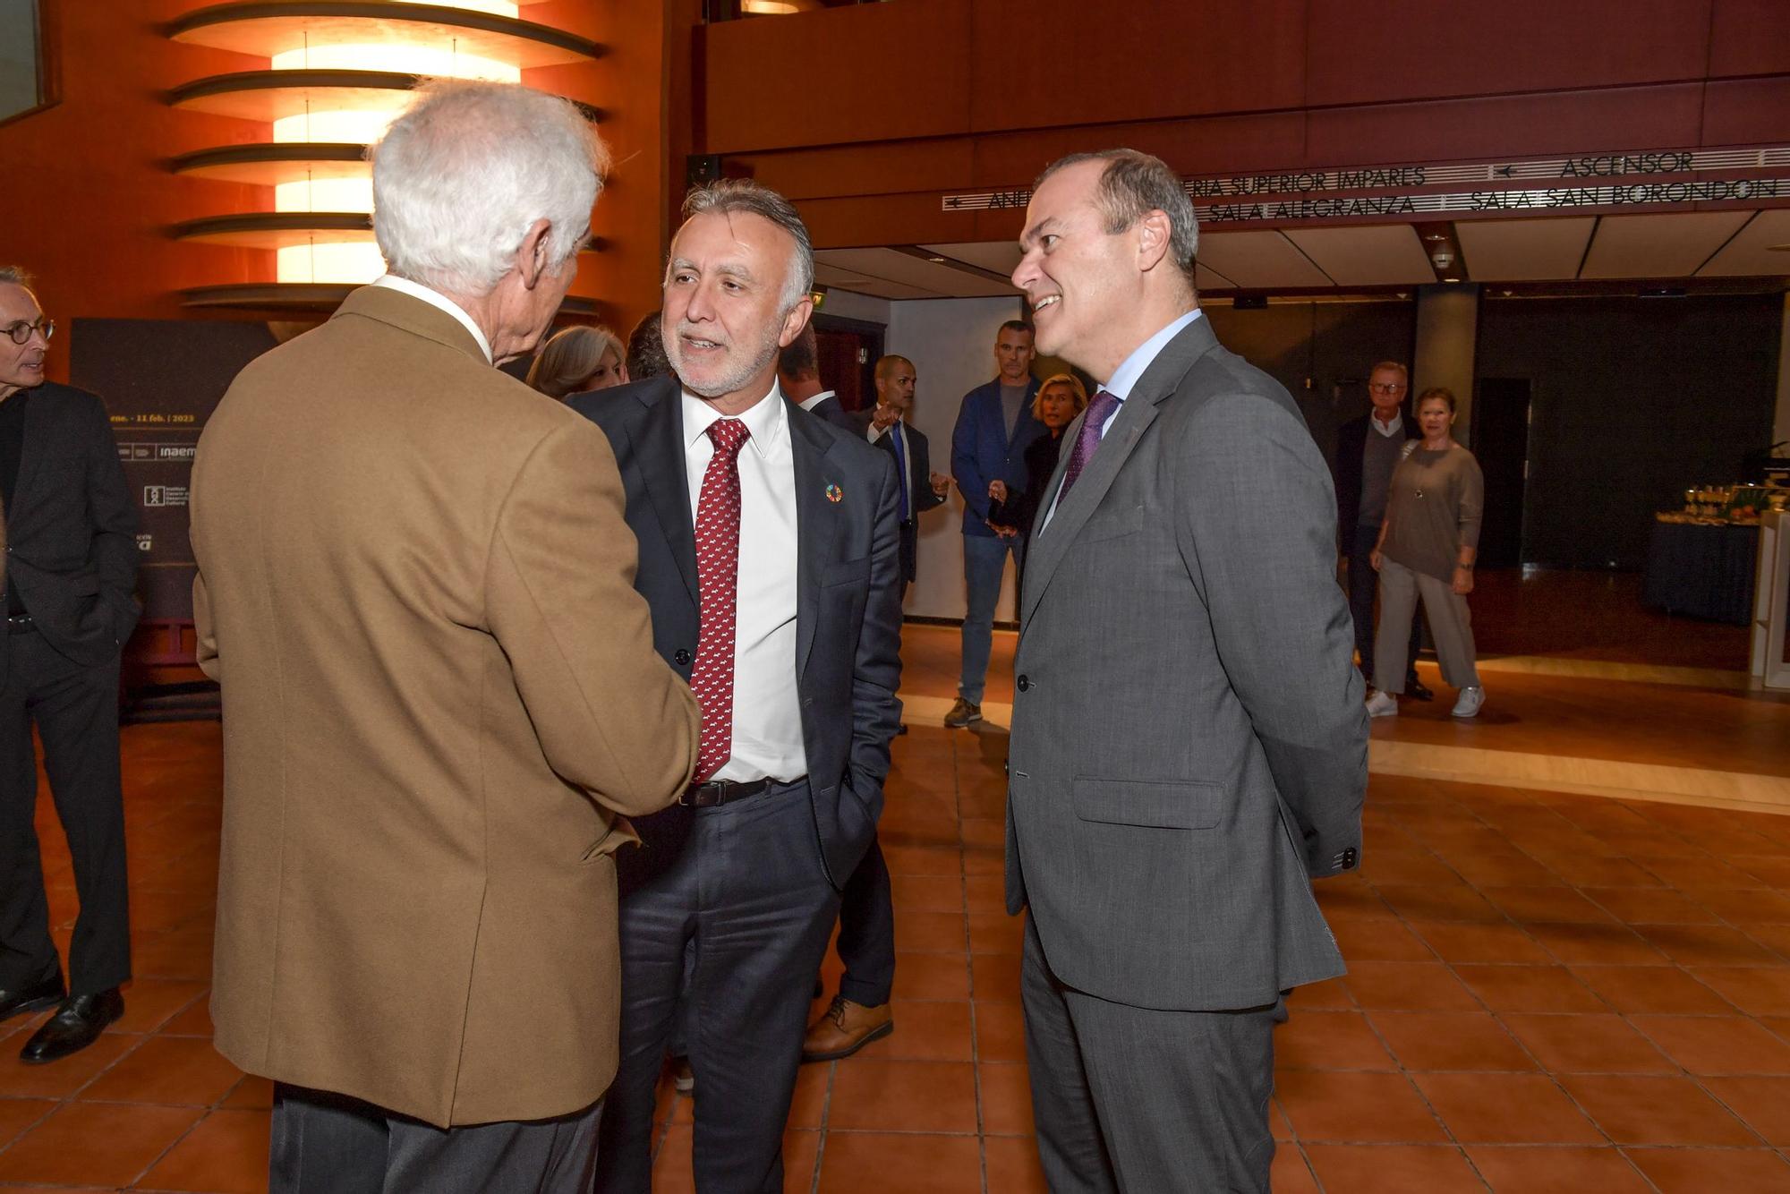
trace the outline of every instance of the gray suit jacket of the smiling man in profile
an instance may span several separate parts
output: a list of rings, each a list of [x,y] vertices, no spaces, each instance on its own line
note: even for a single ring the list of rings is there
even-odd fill
[[[1008,911],[1061,981],[1140,1008],[1341,974],[1308,879],[1359,857],[1368,716],[1292,397],[1194,320],[1027,555]]]

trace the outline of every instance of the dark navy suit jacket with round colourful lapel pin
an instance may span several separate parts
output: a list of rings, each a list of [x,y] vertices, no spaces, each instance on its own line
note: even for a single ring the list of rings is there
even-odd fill
[[[650,378],[576,394],[567,405],[596,422],[616,451],[639,542],[634,587],[652,607],[653,646],[689,680],[700,616],[682,390],[671,378]],[[875,834],[890,739],[900,725],[899,494],[888,456],[795,403],[788,414],[802,745],[822,857],[832,886],[843,888]],[[618,856],[625,888],[677,857],[689,816],[687,807],[671,806],[635,822],[643,849]]]

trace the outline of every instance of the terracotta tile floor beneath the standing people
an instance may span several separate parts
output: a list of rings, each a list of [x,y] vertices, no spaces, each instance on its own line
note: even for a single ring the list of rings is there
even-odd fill
[[[949,695],[954,643],[909,632],[909,691]],[[992,691],[1010,659],[1001,635]],[[1670,704],[1645,720],[1683,730]],[[1590,720],[1579,738],[1597,746]],[[804,1069],[791,1190],[1044,1189],[1004,748],[918,720],[897,739],[899,1028]],[[204,1006],[218,727],[127,729],[125,777],[129,1013],[38,1069],[13,1058],[36,1020],[0,1026],[0,1189],[260,1190],[270,1090],[211,1053]],[[1790,1190],[1790,816],[1377,775],[1366,822],[1364,870],[1319,886],[1351,972],[1278,1033],[1276,1189]],[[39,832],[66,947],[47,798]],[[657,1187],[686,1190],[691,1104],[668,1088],[662,1113]]]

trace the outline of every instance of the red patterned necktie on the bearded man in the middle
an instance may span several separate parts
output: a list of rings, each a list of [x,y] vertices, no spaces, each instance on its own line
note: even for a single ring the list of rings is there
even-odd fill
[[[702,705],[695,782],[714,777],[734,754],[734,607],[739,596],[739,419],[709,424],[714,455],[696,498],[696,589],[702,625],[689,687]]]

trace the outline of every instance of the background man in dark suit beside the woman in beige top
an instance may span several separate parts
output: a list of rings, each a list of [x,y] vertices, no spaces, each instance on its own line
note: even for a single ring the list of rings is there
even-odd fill
[[[1355,623],[1360,673],[1369,684],[1373,682],[1373,596],[1380,587],[1380,575],[1368,557],[1380,541],[1385,492],[1398,462],[1405,458],[1405,444],[1423,439],[1418,421],[1403,415],[1411,387],[1407,378],[1409,371],[1396,360],[1384,360],[1373,367],[1368,374],[1368,399],[1373,410],[1337,428],[1337,456],[1332,464],[1337,478],[1337,548],[1348,560],[1348,614]],[[1434,700],[1436,693],[1418,682],[1421,627],[1423,614],[1412,614],[1405,695]]]

